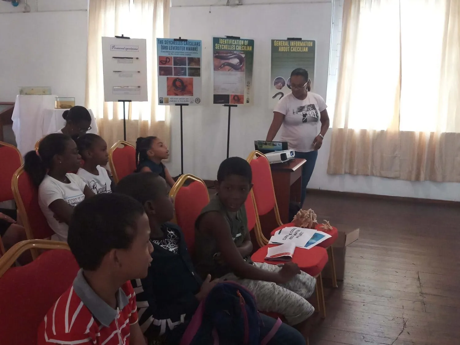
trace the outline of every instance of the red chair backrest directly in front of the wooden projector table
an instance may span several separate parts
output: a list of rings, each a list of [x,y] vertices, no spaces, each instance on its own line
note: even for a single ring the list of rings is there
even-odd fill
[[[264,156],[249,162],[253,173],[253,192],[259,216],[269,213],[276,205],[275,190],[271,179],[270,163]]]

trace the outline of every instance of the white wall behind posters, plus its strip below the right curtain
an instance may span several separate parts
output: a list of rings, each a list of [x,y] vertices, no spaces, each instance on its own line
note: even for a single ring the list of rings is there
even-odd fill
[[[326,98],[332,0],[242,0],[243,6],[222,6],[226,0],[172,0],[171,37],[203,40],[203,65],[211,66],[212,36],[233,35],[255,40],[254,106],[232,109],[230,156],[246,158],[253,140],[266,136],[272,118],[266,106],[270,78],[270,40],[302,37],[316,40],[315,92]],[[232,1],[232,3],[235,0]],[[342,1],[336,0],[335,6]],[[333,30],[341,29],[341,17]],[[338,54],[338,42],[333,54]],[[184,107],[184,172],[214,179],[219,163],[226,156],[228,108],[212,104],[211,68],[202,69],[202,106]],[[172,111],[173,175],[180,173],[180,122],[177,108]],[[349,191],[389,196],[407,196],[460,201],[460,184],[410,182],[354,175],[328,175],[330,134],[318,155],[309,188]]]

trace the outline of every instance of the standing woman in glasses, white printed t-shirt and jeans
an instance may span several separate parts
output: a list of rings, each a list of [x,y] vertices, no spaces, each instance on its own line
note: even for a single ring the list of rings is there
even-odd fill
[[[266,138],[267,141],[272,141],[282,127],[281,141],[288,142],[289,149],[295,151],[295,158],[306,160],[302,167],[301,207],[304,204],[307,184],[315,168],[318,150],[329,129],[327,105],[320,95],[309,92],[310,83],[305,69],[297,68],[292,71],[292,92],[276,104]],[[319,133],[318,122],[321,122]]]

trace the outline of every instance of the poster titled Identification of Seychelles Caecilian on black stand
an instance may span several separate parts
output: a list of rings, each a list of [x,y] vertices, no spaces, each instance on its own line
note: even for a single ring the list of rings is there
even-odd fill
[[[213,38],[213,103],[251,104],[254,40]]]

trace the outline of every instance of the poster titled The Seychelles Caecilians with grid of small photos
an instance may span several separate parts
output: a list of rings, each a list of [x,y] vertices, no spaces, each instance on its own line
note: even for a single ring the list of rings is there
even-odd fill
[[[158,104],[201,103],[201,40],[156,39]]]

